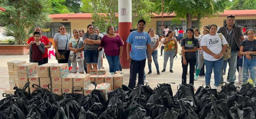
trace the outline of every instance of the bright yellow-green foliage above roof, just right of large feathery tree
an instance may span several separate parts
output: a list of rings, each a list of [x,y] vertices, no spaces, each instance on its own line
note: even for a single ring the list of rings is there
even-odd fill
[[[69,9],[65,5],[66,0],[46,0],[49,4],[49,11],[51,14],[63,14],[70,13]]]

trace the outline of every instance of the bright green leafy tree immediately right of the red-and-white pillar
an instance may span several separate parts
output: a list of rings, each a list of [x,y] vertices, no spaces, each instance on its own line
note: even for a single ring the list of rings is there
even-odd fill
[[[155,13],[154,2],[150,0],[132,0],[132,28],[137,28],[140,19],[144,19],[147,24],[151,22],[152,13]]]

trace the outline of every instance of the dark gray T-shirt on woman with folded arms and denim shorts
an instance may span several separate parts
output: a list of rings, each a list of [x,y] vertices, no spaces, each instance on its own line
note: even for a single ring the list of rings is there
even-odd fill
[[[93,35],[90,35],[89,33],[84,33],[83,40],[86,38],[91,40],[100,40],[100,36],[96,33],[93,33]],[[84,50],[98,50],[98,48],[99,48],[98,44],[92,44],[92,45],[84,44]]]

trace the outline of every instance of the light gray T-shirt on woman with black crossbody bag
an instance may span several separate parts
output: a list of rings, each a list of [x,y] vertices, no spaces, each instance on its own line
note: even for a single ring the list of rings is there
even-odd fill
[[[57,47],[58,47],[57,49],[58,50],[65,50],[66,46],[67,46],[66,50],[69,50],[69,45],[68,44],[69,44],[69,39],[70,38],[71,37],[70,37],[69,34],[61,35],[60,33],[56,33],[54,35],[53,40],[54,41],[58,41],[58,45],[57,45]],[[68,40],[68,42],[67,42],[67,40]]]

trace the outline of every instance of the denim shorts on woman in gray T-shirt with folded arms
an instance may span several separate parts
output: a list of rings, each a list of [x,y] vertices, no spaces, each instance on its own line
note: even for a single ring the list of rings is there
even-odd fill
[[[84,58],[86,60],[86,64],[97,64],[98,63],[98,50],[84,50]]]

